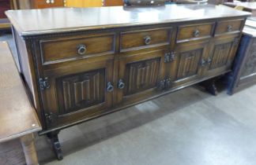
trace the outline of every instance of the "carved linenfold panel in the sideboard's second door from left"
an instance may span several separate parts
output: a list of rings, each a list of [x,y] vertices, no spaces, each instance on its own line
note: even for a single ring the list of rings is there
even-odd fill
[[[160,58],[126,64],[125,77],[128,83],[125,95],[135,94],[156,86]]]

